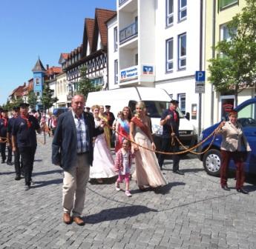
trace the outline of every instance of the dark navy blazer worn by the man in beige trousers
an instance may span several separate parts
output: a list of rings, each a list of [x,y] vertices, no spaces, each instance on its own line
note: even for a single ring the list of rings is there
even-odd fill
[[[93,116],[85,113],[85,124],[89,131],[89,159],[90,165],[93,163],[93,136],[103,133],[103,130],[95,128]],[[76,124],[73,120],[72,111],[62,113],[57,121],[56,131],[53,137],[52,162],[53,165],[60,165],[63,170],[68,170],[76,162],[77,138]]]

